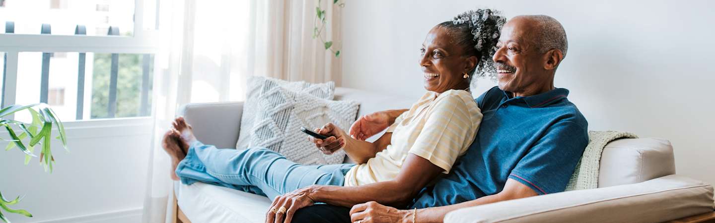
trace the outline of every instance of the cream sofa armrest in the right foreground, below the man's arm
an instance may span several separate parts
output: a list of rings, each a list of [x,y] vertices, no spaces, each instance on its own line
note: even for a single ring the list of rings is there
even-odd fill
[[[445,222],[665,222],[712,212],[713,187],[679,175],[450,212]]]

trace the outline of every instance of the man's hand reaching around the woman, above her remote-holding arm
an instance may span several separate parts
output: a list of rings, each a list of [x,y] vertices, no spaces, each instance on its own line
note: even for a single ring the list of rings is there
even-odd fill
[[[358,118],[350,127],[350,136],[353,139],[363,140],[368,139],[375,134],[383,132],[390,127],[390,124],[395,122],[395,118],[400,116],[406,110],[388,110],[375,112],[373,114],[363,115]]]

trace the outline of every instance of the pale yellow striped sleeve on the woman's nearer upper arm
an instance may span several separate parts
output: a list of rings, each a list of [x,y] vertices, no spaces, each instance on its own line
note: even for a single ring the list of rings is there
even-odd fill
[[[447,95],[435,101],[422,131],[410,148],[410,153],[429,160],[450,172],[460,154],[468,147],[466,137],[475,129],[469,107],[458,95]]]

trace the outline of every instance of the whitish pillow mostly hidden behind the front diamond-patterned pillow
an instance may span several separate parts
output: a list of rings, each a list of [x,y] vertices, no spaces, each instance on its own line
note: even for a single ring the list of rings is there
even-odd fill
[[[256,117],[258,101],[260,101],[259,98],[263,96],[262,89],[272,89],[276,86],[328,100],[332,100],[333,93],[335,92],[335,83],[332,81],[322,84],[310,84],[305,81],[284,81],[265,76],[249,76],[246,101],[243,105],[243,114],[241,116],[241,131],[238,134],[236,149],[246,149],[251,142],[250,129],[252,129]]]

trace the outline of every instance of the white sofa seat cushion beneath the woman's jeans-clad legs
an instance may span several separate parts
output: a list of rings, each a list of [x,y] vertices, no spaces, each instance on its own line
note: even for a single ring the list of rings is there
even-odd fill
[[[204,183],[175,182],[174,192],[191,222],[261,223],[271,204],[267,197]]]

